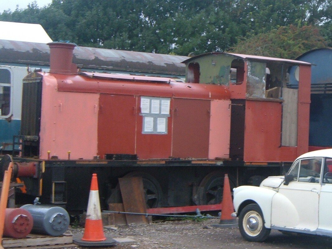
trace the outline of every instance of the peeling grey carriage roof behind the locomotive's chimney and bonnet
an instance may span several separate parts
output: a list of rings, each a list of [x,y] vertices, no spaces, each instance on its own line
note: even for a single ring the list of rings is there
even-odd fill
[[[73,63],[85,69],[183,76],[185,65],[181,64],[181,61],[187,58],[168,54],[76,47]],[[43,43],[0,40],[0,61],[49,66],[49,47]]]

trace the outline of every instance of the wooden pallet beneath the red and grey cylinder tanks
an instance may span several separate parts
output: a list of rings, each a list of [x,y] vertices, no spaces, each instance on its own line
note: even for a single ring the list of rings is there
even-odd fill
[[[73,243],[73,236],[62,235],[62,236],[46,236],[46,235],[28,235],[22,239],[4,238],[2,246],[4,248],[11,247],[27,247],[27,246],[46,246],[56,244],[71,244]]]

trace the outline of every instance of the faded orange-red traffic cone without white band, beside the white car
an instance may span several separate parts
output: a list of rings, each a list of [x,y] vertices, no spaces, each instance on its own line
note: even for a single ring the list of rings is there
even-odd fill
[[[228,174],[225,174],[224,189],[221,202],[220,223],[213,226],[237,227],[237,220],[236,217],[231,216],[232,212],[234,212],[233,200],[230,192]]]

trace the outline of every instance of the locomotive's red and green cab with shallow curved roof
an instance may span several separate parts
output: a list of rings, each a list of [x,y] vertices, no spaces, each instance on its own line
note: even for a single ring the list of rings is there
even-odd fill
[[[186,81],[223,85],[231,92],[230,158],[291,162],[308,149],[310,63],[212,52],[185,60]],[[299,67],[299,89],[288,70]]]

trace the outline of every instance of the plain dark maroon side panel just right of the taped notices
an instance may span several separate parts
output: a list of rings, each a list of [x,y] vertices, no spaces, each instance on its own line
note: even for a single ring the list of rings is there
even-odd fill
[[[210,101],[174,99],[172,155],[208,158]]]

